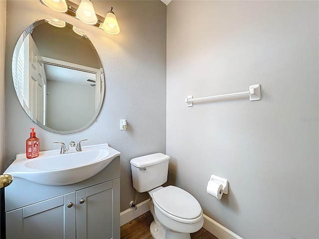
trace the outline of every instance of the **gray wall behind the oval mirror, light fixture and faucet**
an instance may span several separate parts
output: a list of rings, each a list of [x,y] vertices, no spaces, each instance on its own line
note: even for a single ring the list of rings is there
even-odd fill
[[[36,126],[24,113],[14,92],[11,60],[14,45],[23,30],[36,19],[60,18],[91,39],[102,61],[106,94],[101,112],[87,129],[61,135],[36,129],[40,150],[56,149],[54,141],[109,143],[121,152],[121,211],[134,200],[130,159],[165,153],[166,120],[166,6],[156,1],[92,0],[97,14],[106,15],[113,6],[121,32],[110,35],[65,14],[55,12],[39,0],[8,0],[5,56],[5,161],[24,152],[30,127]],[[128,120],[128,130],[120,131],[120,119]],[[138,201],[148,198],[147,194]]]

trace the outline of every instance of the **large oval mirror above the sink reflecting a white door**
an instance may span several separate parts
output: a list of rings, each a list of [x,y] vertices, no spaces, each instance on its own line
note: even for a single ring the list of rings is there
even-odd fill
[[[25,113],[51,132],[85,129],[102,106],[100,58],[80,29],[61,20],[38,20],[25,29],[14,48],[12,79]]]

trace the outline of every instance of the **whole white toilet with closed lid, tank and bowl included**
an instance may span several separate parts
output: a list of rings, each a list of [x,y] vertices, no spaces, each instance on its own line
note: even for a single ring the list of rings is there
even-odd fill
[[[140,193],[148,192],[150,211],[154,221],[150,226],[155,239],[190,239],[204,223],[198,201],[185,190],[161,185],[167,181],[168,160],[163,153],[131,159],[133,187]]]

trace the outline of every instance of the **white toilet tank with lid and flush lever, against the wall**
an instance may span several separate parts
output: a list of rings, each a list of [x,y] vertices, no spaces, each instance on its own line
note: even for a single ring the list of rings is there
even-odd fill
[[[153,153],[131,159],[133,187],[143,193],[164,184],[169,158],[163,153]]]

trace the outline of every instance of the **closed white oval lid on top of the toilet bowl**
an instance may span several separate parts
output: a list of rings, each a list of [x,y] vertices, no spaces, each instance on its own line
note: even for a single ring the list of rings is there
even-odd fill
[[[195,219],[201,215],[198,201],[181,188],[167,186],[152,195],[153,200],[162,210],[175,217]]]

